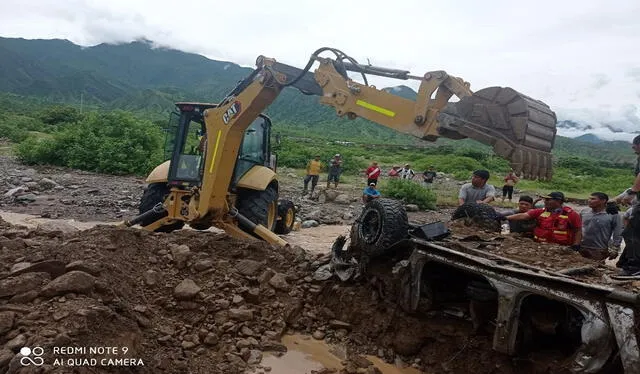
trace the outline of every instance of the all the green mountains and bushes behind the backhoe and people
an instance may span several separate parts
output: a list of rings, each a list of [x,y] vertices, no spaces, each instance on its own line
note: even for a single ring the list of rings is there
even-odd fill
[[[143,175],[161,161],[162,127],[174,102],[217,102],[250,72],[152,49],[146,42],[81,48],[62,40],[0,38],[0,51],[0,138],[17,144],[15,154],[27,163],[115,174]],[[399,94],[410,95],[407,90]],[[372,160],[385,168],[409,162],[416,172],[433,165],[461,180],[486,168],[490,182],[502,186],[508,163],[487,146],[472,140],[424,142],[366,120],[337,117],[317,101],[285,89],[268,107],[273,132],[283,138],[274,146],[280,165],[304,168],[315,154],[326,162],[341,153],[351,175]],[[522,181],[518,187],[584,196],[596,190],[614,194],[631,181],[628,143],[557,137],[554,157],[553,181]]]

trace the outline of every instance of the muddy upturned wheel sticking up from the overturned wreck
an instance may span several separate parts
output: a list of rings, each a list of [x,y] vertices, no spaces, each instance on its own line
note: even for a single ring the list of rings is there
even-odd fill
[[[369,257],[384,254],[394,243],[406,239],[409,231],[404,205],[393,199],[376,199],[365,205],[358,219],[357,242]]]

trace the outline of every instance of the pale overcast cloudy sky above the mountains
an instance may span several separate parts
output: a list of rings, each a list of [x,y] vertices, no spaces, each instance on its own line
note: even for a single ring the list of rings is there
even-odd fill
[[[638,0],[0,0],[0,36],[144,37],[243,66],[264,54],[302,67],[331,46],[415,75],[446,70],[473,90],[511,86],[628,139],[640,131],[639,17]]]

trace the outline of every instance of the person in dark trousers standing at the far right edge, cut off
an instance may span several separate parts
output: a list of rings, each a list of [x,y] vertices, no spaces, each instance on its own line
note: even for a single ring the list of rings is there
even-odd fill
[[[631,148],[638,155],[633,170],[635,180],[631,188],[615,198],[616,202],[632,205],[624,214],[624,251],[616,266],[621,268],[621,275],[635,277],[640,275],[640,135],[633,138]]]

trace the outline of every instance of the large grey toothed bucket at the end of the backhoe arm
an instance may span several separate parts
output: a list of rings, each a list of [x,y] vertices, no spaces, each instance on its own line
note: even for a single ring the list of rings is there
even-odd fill
[[[527,179],[550,180],[556,114],[512,88],[489,87],[448,103],[438,116],[444,137],[462,135],[493,147]],[[457,133],[457,134],[456,134]]]

